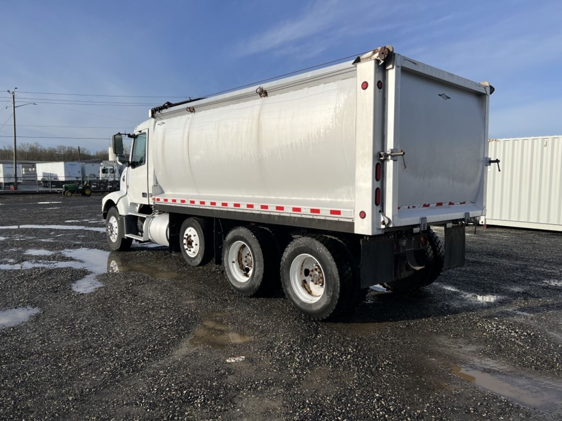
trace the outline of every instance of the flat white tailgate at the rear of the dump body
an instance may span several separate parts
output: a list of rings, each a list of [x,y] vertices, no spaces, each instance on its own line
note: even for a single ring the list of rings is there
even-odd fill
[[[387,83],[387,226],[484,214],[490,87],[398,55]]]

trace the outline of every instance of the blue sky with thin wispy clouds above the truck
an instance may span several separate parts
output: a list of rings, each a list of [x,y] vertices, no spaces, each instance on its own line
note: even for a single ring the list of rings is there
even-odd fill
[[[161,104],[391,44],[429,65],[490,81],[496,87],[491,137],[562,134],[561,2],[9,0],[0,6],[0,91],[162,95],[19,93],[21,101]],[[11,113],[7,101],[7,93],[0,94],[2,136],[12,134],[11,120],[1,127]],[[150,107],[21,107],[18,134],[108,139],[146,120]],[[37,141],[89,149],[108,143]]]

